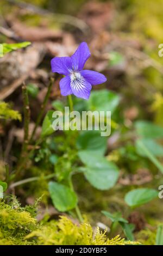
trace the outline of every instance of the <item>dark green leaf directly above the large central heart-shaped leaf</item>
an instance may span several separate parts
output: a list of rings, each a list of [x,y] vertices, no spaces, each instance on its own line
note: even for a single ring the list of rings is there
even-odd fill
[[[80,150],[98,151],[104,155],[106,151],[107,137],[102,137],[99,131],[82,131],[79,133],[77,148]]]

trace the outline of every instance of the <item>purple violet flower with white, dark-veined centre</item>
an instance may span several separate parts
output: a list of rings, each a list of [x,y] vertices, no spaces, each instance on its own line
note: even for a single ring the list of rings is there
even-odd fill
[[[51,60],[52,72],[65,76],[59,83],[61,95],[74,94],[87,100],[92,86],[106,82],[106,77],[103,74],[83,70],[84,64],[90,55],[86,42],[82,42],[71,57],[55,57]]]

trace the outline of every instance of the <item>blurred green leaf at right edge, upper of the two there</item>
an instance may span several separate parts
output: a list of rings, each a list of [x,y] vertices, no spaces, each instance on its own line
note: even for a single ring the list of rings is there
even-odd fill
[[[135,123],[135,128],[137,134],[143,138],[163,138],[163,127],[155,125],[149,121],[137,121]]]

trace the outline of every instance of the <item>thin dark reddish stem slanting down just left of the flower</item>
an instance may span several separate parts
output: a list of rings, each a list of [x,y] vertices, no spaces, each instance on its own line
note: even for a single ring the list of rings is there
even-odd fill
[[[46,105],[47,105],[47,102],[48,102],[48,99],[49,99],[49,96],[50,96],[50,93],[51,93],[51,89],[52,89],[52,86],[53,86],[53,83],[54,83],[54,78],[51,78],[51,81],[49,82],[49,86],[48,86],[48,90],[47,90],[47,93],[45,95],[45,99],[41,105],[41,111],[37,117],[37,120],[36,120],[36,124],[35,124],[35,127],[34,127],[34,130],[32,132],[32,135],[30,137],[30,141],[33,140],[33,137],[35,135],[35,132],[37,130],[37,127],[39,126],[39,124],[41,123],[41,119],[42,119],[42,116],[43,116],[43,113],[45,112],[45,108],[46,108]]]

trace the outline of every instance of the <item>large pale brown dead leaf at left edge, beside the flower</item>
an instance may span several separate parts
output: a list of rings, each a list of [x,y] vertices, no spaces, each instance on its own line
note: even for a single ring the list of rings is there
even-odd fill
[[[45,54],[42,44],[6,54],[0,59],[0,100],[4,100],[28,78]]]

